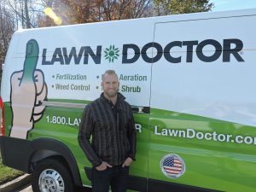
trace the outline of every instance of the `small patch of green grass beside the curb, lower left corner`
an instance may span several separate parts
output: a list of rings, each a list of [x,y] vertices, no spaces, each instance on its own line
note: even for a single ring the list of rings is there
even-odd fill
[[[2,157],[0,155],[0,184],[7,183],[23,174],[24,172],[9,168],[8,166],[3,166]]]

